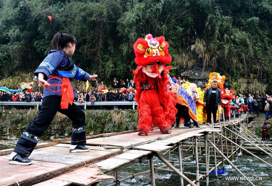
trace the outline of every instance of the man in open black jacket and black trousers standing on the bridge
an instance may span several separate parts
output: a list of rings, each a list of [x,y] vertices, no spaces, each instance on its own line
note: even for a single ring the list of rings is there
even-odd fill
[[[221,91],[217,88],[217,81],[213,81],[212,86],[206,89],[203,102],[207,111],[207,125],[211,125],[211,113],[213,114],[213,121],[217,123],[217,106],[221,105]]]

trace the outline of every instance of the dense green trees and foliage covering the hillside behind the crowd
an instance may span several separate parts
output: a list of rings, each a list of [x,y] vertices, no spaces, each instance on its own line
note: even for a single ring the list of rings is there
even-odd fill
[[[233,82],[254,73],[272,84],[271,20],[271,0],[0,0],[0,75],[33,71],[60,31],[77,38],[84,70],[132,77],[133,43],[152,33],[169,42],[175,74],[200,61]]]

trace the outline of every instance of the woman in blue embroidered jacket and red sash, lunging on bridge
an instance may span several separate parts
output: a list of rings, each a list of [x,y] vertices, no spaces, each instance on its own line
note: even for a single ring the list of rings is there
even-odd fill
[[[47,130],[57,112],[67,115],[72,120],[72,140],[70,153],[87,152],[85,147],[85,114],[73,103],[77,97],[71,79],[96,81],[97,75],[90,75],[77,65],[69,56],[74,54],[77,40],[70,34],[55,34],[50,51],[34,72],[39,84],[44,87],[43,102],[38,116],[25,129],[11,153],[9,164],[30,165],[28,156]]]

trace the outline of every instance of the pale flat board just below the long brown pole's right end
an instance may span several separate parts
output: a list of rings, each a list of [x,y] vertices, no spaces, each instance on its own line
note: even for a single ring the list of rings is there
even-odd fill
[[[115,169],[116,167],[119,167],[127,162],[130,162],[128,159],[120,159],[120,158],[109,158],[104,161],[95,163],[93,165],[97,165],[99,169],[103,170],[112,170]]]

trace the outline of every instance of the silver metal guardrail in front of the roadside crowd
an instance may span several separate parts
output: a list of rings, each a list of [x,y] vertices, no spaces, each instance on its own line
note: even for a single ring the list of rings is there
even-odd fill
[[[21,105],[21,106],[37,106],[37,110],[39,110],[39,106],[41,106],[41,101],[0,101],[1,105]],[[91,106],[91,102],[74,102],[77,106],[84,106],[84,110],[86,110],[87,106]],[[119,105],[131,105],[133,110],[135,106],[137,106],[136,101],[96,101],[94,102],[94,106],[119,106]]]

